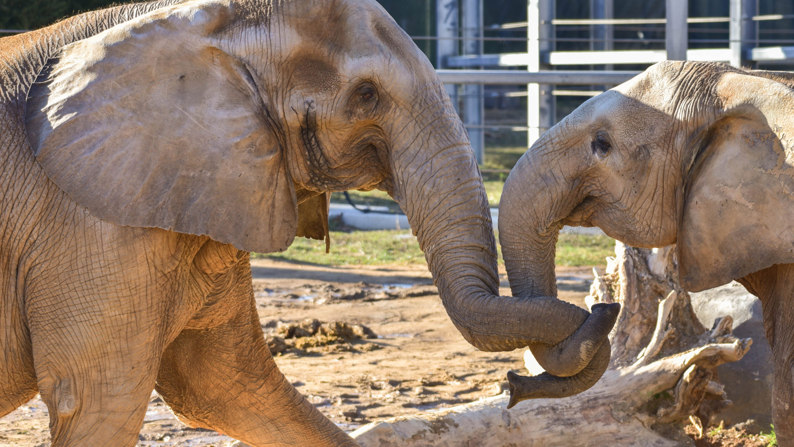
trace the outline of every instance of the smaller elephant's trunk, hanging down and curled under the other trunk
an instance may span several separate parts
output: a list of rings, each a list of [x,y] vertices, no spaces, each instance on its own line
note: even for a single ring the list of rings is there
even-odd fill
[[[569,176],[562,170],[565,164],[553,159],[559,152],[543,150],[552,146],[550,138],[546,134],[530,149],[507,179],[499,207],[499,242],[515,299],[563,306],[563,301],[555,298],[555,247],[561,221],[581,197],[566,180]],[[535,359],[548,372],[534,378],[512,375],[509,379],[515,390],[511,405],[525,398],[576,394],[592,387],[606,371],[611,350],[604,341],[615,325],[620,305],[594,305],[589,316],[584,309],[565,305],[571,308],[570,326],[561,328],[556,321],[547,326],[550,333],[565,331],[565,339],[555,340],[554,344],[529,344]],[[571,331],[574,326],[576,329]],[[553,340],[549,335],[544,338]]]

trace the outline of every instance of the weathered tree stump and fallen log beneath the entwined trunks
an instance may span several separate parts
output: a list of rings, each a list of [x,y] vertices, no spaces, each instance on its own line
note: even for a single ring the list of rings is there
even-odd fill
[[[675,250],[617,243],[607,272],[595,271],[588,305],[619,301],[612,359],[580,395],[534,399],[507,410],[509,396],[418,416],[391,418],[353,433],[364,447],[404,446],[674,446],[689,445],[681,422],[702,430],[730,405],[716,374],[742,358],[753,340],[731,334],[732,319],[703,328],[677,283]],[[529,351],[527,351],[529,352]],[[527,369],[537,363],[525,356]]]

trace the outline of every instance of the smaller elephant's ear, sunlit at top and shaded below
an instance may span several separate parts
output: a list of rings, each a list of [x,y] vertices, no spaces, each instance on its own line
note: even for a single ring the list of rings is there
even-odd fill
[[[690,291],[794,262],[794,98],[755,76],[731,74],[721,88],[727,111],[692,169],[676,244]]]

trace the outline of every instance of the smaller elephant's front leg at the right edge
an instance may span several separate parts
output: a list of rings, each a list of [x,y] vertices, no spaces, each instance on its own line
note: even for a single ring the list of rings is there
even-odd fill
[[[772,418],[778,445],[794,446],[794,264],[776,264],[738,280],[761,299],[772,346]]]

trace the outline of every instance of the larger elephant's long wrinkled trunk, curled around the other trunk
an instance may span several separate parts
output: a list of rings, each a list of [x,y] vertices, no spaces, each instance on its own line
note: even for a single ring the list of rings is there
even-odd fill
[[[425,108],[423,117],[414,118],[419,131],[408,132],[421,144],[392,150],[391,163],[395,199],[425,252],[441,301],[453,324],[476,348],[494,352],[548,347],[542,366],[552,373],[577,375],[588,368],[614,325],[616,306],[601,306],[591,315],[554,297],[499,296],[495,240],[480,172],[440,83],[437,95],[435,109]],[[434,155],[421,157],[422,152]],[[551,250],[547,261],[553,287],[553,246]],[[574,392],[584,389],[569,387]]]

